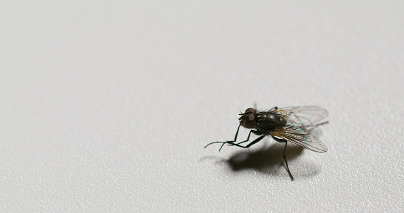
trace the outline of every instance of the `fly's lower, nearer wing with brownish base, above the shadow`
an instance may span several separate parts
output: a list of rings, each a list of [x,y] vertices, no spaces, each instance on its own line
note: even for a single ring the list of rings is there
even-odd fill
[[[293,124],[288,121],[288,125],[271,131],[271,135],[276,138],[282,138],[293,142],[297,145],[305,147],[307,150],[314,152],[327,152],[327,147],[324,143],[311,135],[305,126],[292,126]]]

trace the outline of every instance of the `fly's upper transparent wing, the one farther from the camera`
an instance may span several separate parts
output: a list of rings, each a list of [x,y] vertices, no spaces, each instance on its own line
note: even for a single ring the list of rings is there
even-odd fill
[[[318,106],[284,107],[273,111],[290,121],[292,126],[314,126],[329,116],[326,109]]]

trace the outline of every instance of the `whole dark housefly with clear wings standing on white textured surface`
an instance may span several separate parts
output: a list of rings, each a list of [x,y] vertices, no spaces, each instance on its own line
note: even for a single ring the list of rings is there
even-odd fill
[[[284,142],[283,159],[285,159],[286,169],[293,181],[293,176],[290,173],[288,161],[286,160],[286,145],[293,142],[296,145],[305,147],[307,150],[314,152],[326,152],[328,149],[321,140],[310,134],[312,128],[322,125],[327,122],[322,122],[328,116],[326,109],[317,106],[302,106],[302,107],[274,107],[268,111],[259,111],[254,108],[248,108],[244,113],[240,114],[240,124],[235,132],[234,140],[225,142],[211,142],[205,148],[214,143],[222,143],[221,148],[227,144],[231,146],[248,148],[255,145],[265,136],[271,136],[277,142]],[[321,123],[322,122],[322,123]],[[247,140],[235,142],[237,140],[238,130],[240,126],[251,129],[247,136]],[[259,138],[253,140],[248,145],[241,145],[250,140],[251,133],[259,135]]]

